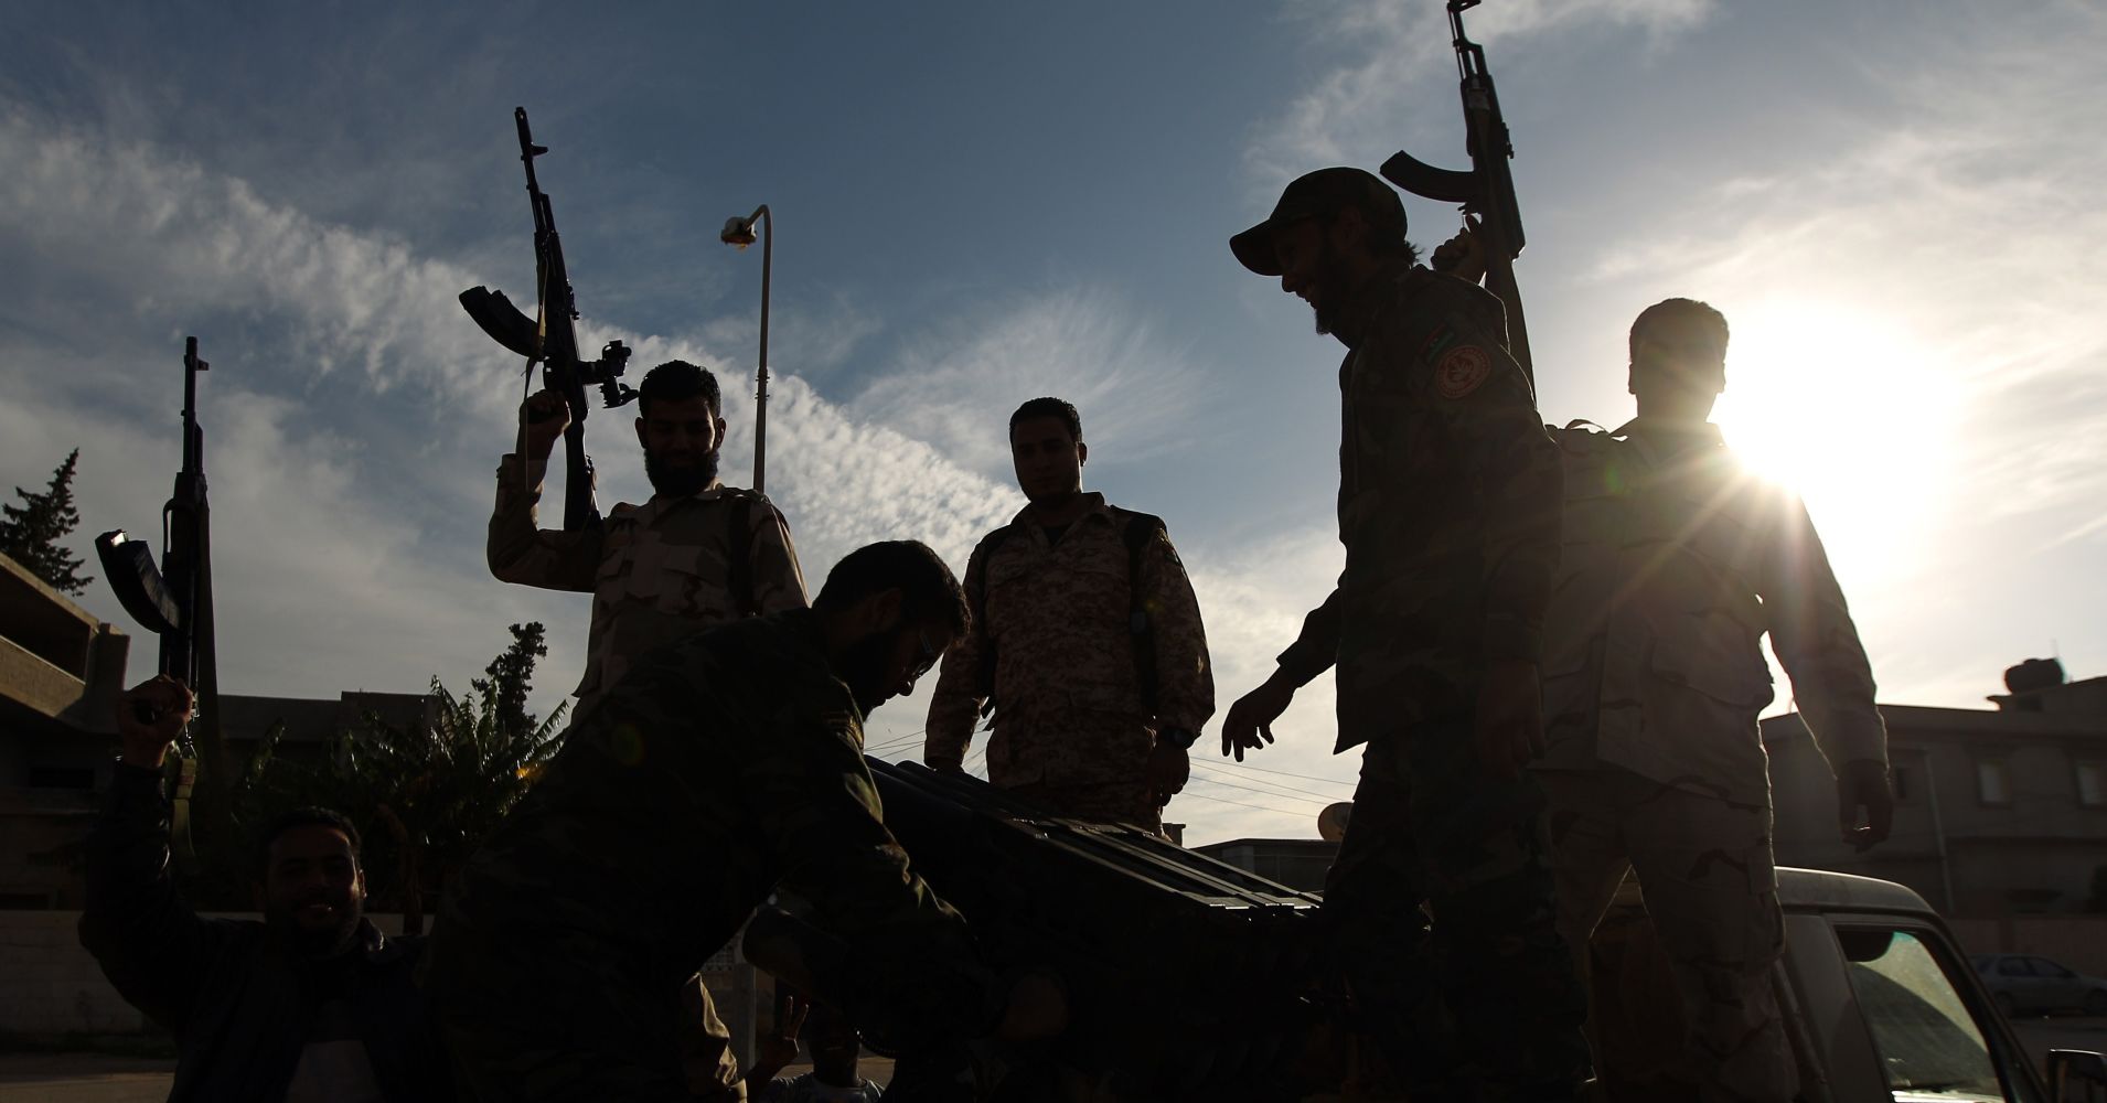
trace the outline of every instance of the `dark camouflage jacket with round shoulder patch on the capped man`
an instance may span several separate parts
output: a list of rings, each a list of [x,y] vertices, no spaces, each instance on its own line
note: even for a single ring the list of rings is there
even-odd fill
[[[1338,749],[1469,716],[1490,659],[1536,661],[1559,556],[1559,461],[1500,301],[1393,265],[1340,312],[1346,570],[1281,653],[1338,663]]]

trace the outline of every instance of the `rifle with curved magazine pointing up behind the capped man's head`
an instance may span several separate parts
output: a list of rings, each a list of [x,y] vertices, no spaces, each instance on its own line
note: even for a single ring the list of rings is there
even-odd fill
[[[1471,168],[1435,168],[1399,149],[1382,162],[1382,177],[1414,196],[1462,204],[1466,213],[1479,217],[1477,236],[1485,244],[1485,290],[1507,303],[1507,341],[1521,370],[1530,373],[1534,381],[1530,328],[1521,320],[1521,290],[1515,286],[1515,257],[1525,244],[1521,208],[1515,204],[1515,177],[1507,168],[1509,158],[1515,156],[1515,143],[1507,137],[1500,97],[1494,95],[1492,74],[1485,72],[1485,48],[1462,32],[1462,13],[1477,4],[1479,0],[1448,0],[1456,72],[1462,74],[1464,149],[1471,154]]]

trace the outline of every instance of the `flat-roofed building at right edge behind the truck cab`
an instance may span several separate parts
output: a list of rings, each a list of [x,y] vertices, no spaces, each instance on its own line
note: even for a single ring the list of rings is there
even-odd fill
[[[1764,720],[1778,865],[1903,882],[1949,918],[2107,911],[2107,678],[2006,671],[1995,709],[1882,705],[1894,831],[1852,850],[1797,714]]]

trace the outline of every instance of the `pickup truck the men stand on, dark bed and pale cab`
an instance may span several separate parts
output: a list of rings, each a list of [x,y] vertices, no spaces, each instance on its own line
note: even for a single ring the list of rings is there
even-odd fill
[[[1351,1015],[1319,964],[1317,895],[1134,827],[1047,817],[976,779],[870,768],[887,825],[973,922],[990,964],[1051,972],[1068,994],[1060,1040],[971,1061],[1013,1069],[995,1078],[1007,1084],[976,1076],[976,1099],[1376,1099],[1351,1088],[1361,1080]],[[2044,1080],[1938,914],[1909,888],[1780,869],[1778,897],[1787,951],[1774,985],[1808,1103],[2107,1103],[2096,1052],[2052,1052]],[[822,998],[834,987],[828,972],[847,972],[843,947],[828,943],[761,918],[746,935],[754,964]],[[1658,1074],[1681,1048],[1679,996],[1631,882],[1595,932],[1591,977],[1601,1097],[1677,1099]],[[866,1044],[887,1048],[870,1034]],[[908,1065],[893,1088],[923,1099]],[[959,1082],[952,1071],[933,1080]]]

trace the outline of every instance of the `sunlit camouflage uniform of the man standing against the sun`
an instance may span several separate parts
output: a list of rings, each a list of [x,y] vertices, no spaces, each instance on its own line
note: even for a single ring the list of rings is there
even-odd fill
[[[1873,674],[1806,507],[1717,427],[1553,429],[1566,547],[1544,621],[1542,783],[1559,928],[1587,939],[1627,869],[1675,960],[1707,1099],[1791,1099],[1785,954],[1757,714],[1768,629],[1831,762],[1886,760]]]

